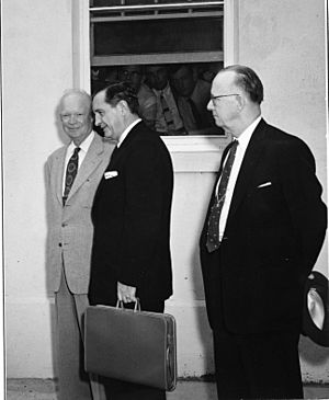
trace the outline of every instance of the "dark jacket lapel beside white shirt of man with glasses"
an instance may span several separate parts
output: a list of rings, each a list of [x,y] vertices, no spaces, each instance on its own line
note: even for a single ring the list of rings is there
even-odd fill
[[[265,137],[265,130],[266,130],[266,123],[263,119],[261,119],[251,136],[251,139],[249,141],[249,145],[247,147],[242,160],[242,164],[238,174],[234,195],[231,198],[227,224],[236,213],[237,208],[239,207],[239,204],[241,203],[242,198],[246,195],[250,178],[252,176],[259,157],[262,153],[262,148],[264,145],[263,138]]]

